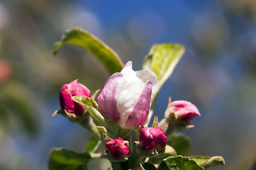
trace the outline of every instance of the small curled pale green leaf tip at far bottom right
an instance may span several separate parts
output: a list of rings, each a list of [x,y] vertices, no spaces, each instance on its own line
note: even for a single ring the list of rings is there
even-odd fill
[[[208,158],[208,159],[207,159]],[[195,157],[193,157],[192,159],[195,160]],[[205,159],[203,161],[203,159]],[[224,165],[225,164],[225,160],[223,159],[223,157],[220,156],[215,156],[215,157],[196,157],[196,162],[198,162],[198,164],[200,164],[200,166],[203,166],[204,169],[208,169],[212,166],[217,166],[219,164]]]

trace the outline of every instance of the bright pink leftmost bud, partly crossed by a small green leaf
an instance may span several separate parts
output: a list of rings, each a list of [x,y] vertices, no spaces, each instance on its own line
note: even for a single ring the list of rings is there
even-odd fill
[[[64,84],[60,89],[60,106],[62,110],[74,115],[82,115],[85,108],[71,99],[72,96],[90,97],[90,90],[83,84],[78,83],[78,79]]]

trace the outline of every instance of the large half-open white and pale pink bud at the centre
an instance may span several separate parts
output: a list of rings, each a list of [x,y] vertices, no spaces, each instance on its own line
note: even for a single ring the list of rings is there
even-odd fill
[[[121,72],[112,74],[105,83],[97,98],[100,110],[122,128],[137,129],[147,122],[152,86],[156,84],[154,72],[134,72],[132,62],[127,62]]]

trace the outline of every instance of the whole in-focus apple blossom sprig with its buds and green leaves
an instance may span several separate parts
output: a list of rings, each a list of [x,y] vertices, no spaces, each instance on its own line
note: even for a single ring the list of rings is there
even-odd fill
[[[201,116],[198,108],[189,101],[171,101],[169,97],[164,118],[158,121],[154,116],[152,126],[148,126],[161,86],[185,52],[183,45],[164,43],[152,46],[144,58],[142,70],[134,71],[132,62],[123,64],[114,50],[80,28],[68,30],[55,43],[53,51],[57,52],[65,44],[85,48],[112,75],[102,90],[93,94],[78,83],[78,79],[61,88],[61,109],[52,116],[65,116],[88,130],[92,137],[83,153],[53,149],[50,170],[87,169],[87,163],[96,158],[109,159],[112,166],[109,169],[113,170],[208,169],[225,164],[223,157],[182,156],[188,154],[189,138],[176,134],[175,130],[193,128],[191,120]],[[102,147],[104,151],[100,151]]]

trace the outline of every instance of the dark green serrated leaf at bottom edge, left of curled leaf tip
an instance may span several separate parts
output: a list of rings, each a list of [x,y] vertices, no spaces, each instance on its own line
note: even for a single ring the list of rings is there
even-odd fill
[[[203,170],[202,166],[199,166],[196,164],[196,162],[192,159],[189,159],[188,157],[169,157],[164,159],[159,165],[159,170]]]

